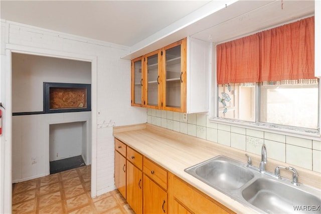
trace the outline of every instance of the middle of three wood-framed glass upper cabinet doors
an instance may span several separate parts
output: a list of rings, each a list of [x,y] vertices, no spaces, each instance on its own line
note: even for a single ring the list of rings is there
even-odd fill
[[[147,107],[150,108],[158,108],[158,100],[159,100],[159,91],[161,86],[161,78],[159,77],[159,51],[154,51],[150,54],[144,56],[145,60],[145,68],[146,68],[146,76],[147,80],[147,89],[145,98]]]

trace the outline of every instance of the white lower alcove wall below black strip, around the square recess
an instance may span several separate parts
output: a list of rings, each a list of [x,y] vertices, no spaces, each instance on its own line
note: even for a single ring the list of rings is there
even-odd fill
[[[85,163],[91,164],[91,112],[13,116],[12,181],[21,182],[50,174],[50,126],[67,123],[67,127],[70,128],[74,122],[80,122],[81,129],[82,124],[85,124],[83,131],[87,133],[87,136],[78,146],[82,149],[81,154],[83,154]],[[68,135],[64,138],[73,139]],[[84,143],[86,147],[82,148]],[[65,149],[71,155],[71,148],[60,149],[59,145],[52,150],[59,150],[61,153],[60,151]]]

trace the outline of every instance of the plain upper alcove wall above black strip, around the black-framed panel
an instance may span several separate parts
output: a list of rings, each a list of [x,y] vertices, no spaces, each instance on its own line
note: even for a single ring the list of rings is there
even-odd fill
[[[13,53],[13,112],[42,111],[43,82],[91,84],[91,63]]]

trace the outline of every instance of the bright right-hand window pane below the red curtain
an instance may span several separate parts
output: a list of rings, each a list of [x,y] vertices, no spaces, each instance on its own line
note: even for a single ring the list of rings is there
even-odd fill
[[[261,87],[260,121],[317,129],[318,84]]]

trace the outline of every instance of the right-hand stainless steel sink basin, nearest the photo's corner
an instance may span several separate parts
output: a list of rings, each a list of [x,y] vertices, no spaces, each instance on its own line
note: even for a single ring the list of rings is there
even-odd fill
[[[242,196],[267,213],[321,213],[319,192],[313,195],[273,179],[256,179],[243,189]]]

